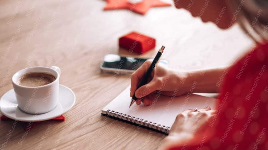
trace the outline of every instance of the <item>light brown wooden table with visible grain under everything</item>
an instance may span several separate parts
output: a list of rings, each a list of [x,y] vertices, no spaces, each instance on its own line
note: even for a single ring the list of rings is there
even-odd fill
[[[100,115],[130,84],[128,75],[114,77],[99,68],[106,54],[129,55],[119,49],[118,38],[130,31],[156,38],[156,49],[144,57],[153,57],[163,44],[163,59],[180,70],[227,65],[252,43],[238,25],[223,31],[174,6],[152,8],[143,16],[128,10],[103,11],[105,4],[102,0],[0,1],[0,96],[12,89],[16,71],[52,65],[61,68],[60,84],[76,95],[75,106],[64,114],[65,122],[41,122],[25,138],[18,123],[6,150],[158,148],[163,134]],[[0,144],[13,123],[0,121]]]

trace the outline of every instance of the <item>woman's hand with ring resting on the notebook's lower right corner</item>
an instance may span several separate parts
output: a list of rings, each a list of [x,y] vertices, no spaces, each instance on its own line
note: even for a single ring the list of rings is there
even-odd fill
[[[216,113],[210,107],[194,111],[185,110],[177,115],[169,136],[165,138],[162,149],[170,149],[174,146],[183,146],[185,144],[200,144],[202,138],[209,139],[213,135],[213,129],[208,126],[210,119]]]

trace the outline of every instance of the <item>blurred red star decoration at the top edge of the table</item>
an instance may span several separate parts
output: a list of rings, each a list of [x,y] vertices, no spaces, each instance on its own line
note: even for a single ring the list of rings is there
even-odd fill
[[[104,10],[128,9],[136,13],[145,14],[151,7],[171,6],[169,3],[160,0],[143,0],[139,3],[130,3],[128,0],[105,0],[107,1]]]

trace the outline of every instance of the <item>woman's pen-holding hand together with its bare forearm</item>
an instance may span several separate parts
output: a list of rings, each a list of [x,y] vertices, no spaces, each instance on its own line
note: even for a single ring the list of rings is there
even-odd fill
[[[150,105],[156,96],[157,90],[159,94],[173,97],[188,92],[217,93],[221,85],[219,79],[228,71],[228,67],[221,67],[182,72],[158,65],[153,70],[148,83],[137,89],[151,63],[151,61],[144,62],[131,77],[130,96],[132,97],[135,93],[135,96],[139,98],[136,101],[138,105],[141,102],[146,106]],[[176,93],[174,92],[175,90]]]

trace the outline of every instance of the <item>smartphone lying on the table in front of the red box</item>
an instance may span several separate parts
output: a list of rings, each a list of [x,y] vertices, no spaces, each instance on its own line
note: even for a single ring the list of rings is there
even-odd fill
[[[146,60],[146,58],[123,57],[115,54],[107,54],[100,65],[101,71],[105,73],[131,74],[137,70]],[[159,64],[167,66],[166,60],[160,60]]]

